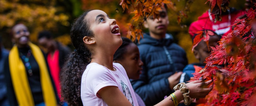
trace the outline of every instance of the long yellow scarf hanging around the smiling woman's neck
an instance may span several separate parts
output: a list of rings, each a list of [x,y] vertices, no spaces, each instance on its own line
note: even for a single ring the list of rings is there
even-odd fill
[[[44,55],[38,46],[32,43],[29,43],[28,45],[30,46],[32,54],[39,66],[44,102],[47,106],[57,105],[54,88],[52,86]],[[9,68],[18,105],[34,106],[35,104],[30,90],[27,72],[24,63],[19,57],[18,47],[16,45],[9,53]]]

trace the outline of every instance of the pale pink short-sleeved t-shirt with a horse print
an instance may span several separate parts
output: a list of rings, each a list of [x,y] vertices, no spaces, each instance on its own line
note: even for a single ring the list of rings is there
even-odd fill
[[[97,95],[97,92],[106,86],[118,87],[133,106],[138,106],[134,90],[125,69],[119,63],[113,63],[113,67],[116,71],[109,70],[97,63],[87,65],[81,81],[81,99],[84,106],[107,106],[106,102]]]

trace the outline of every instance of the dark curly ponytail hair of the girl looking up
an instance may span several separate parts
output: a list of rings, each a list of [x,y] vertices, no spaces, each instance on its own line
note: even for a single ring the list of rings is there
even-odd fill
[[[91,52],[84,45],[84,36],[94,36],[85,19],[88,10],[72,24],[70,38],[75,51],[69,55],[60,72],[61,97],[71,106],[82,106],[81,78],[86,66],[91,62]]]

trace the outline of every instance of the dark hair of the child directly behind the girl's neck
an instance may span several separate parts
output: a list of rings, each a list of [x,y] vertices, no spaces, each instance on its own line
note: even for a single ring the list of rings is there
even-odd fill
[[[122,45],[115,51],[113,61],[114,60],[122,60],[123,59],[123,54],[127,51],[126,46],[129,44],[133,43],[130,39],[126,37],[122,37]]]

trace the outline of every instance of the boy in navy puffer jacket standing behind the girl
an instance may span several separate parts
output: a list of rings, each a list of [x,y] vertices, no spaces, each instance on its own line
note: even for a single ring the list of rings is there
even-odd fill
[[[143,70],[138,80],[131,80],[135,92],[146,105],[155,105],[173,93],[187,65],[186,52],[173,43],[172,35],[166,34],[169,24],[166,7],[159,15],[159,19],[149,17],[144,21],[149,34],[144,34],[138,44]]]

